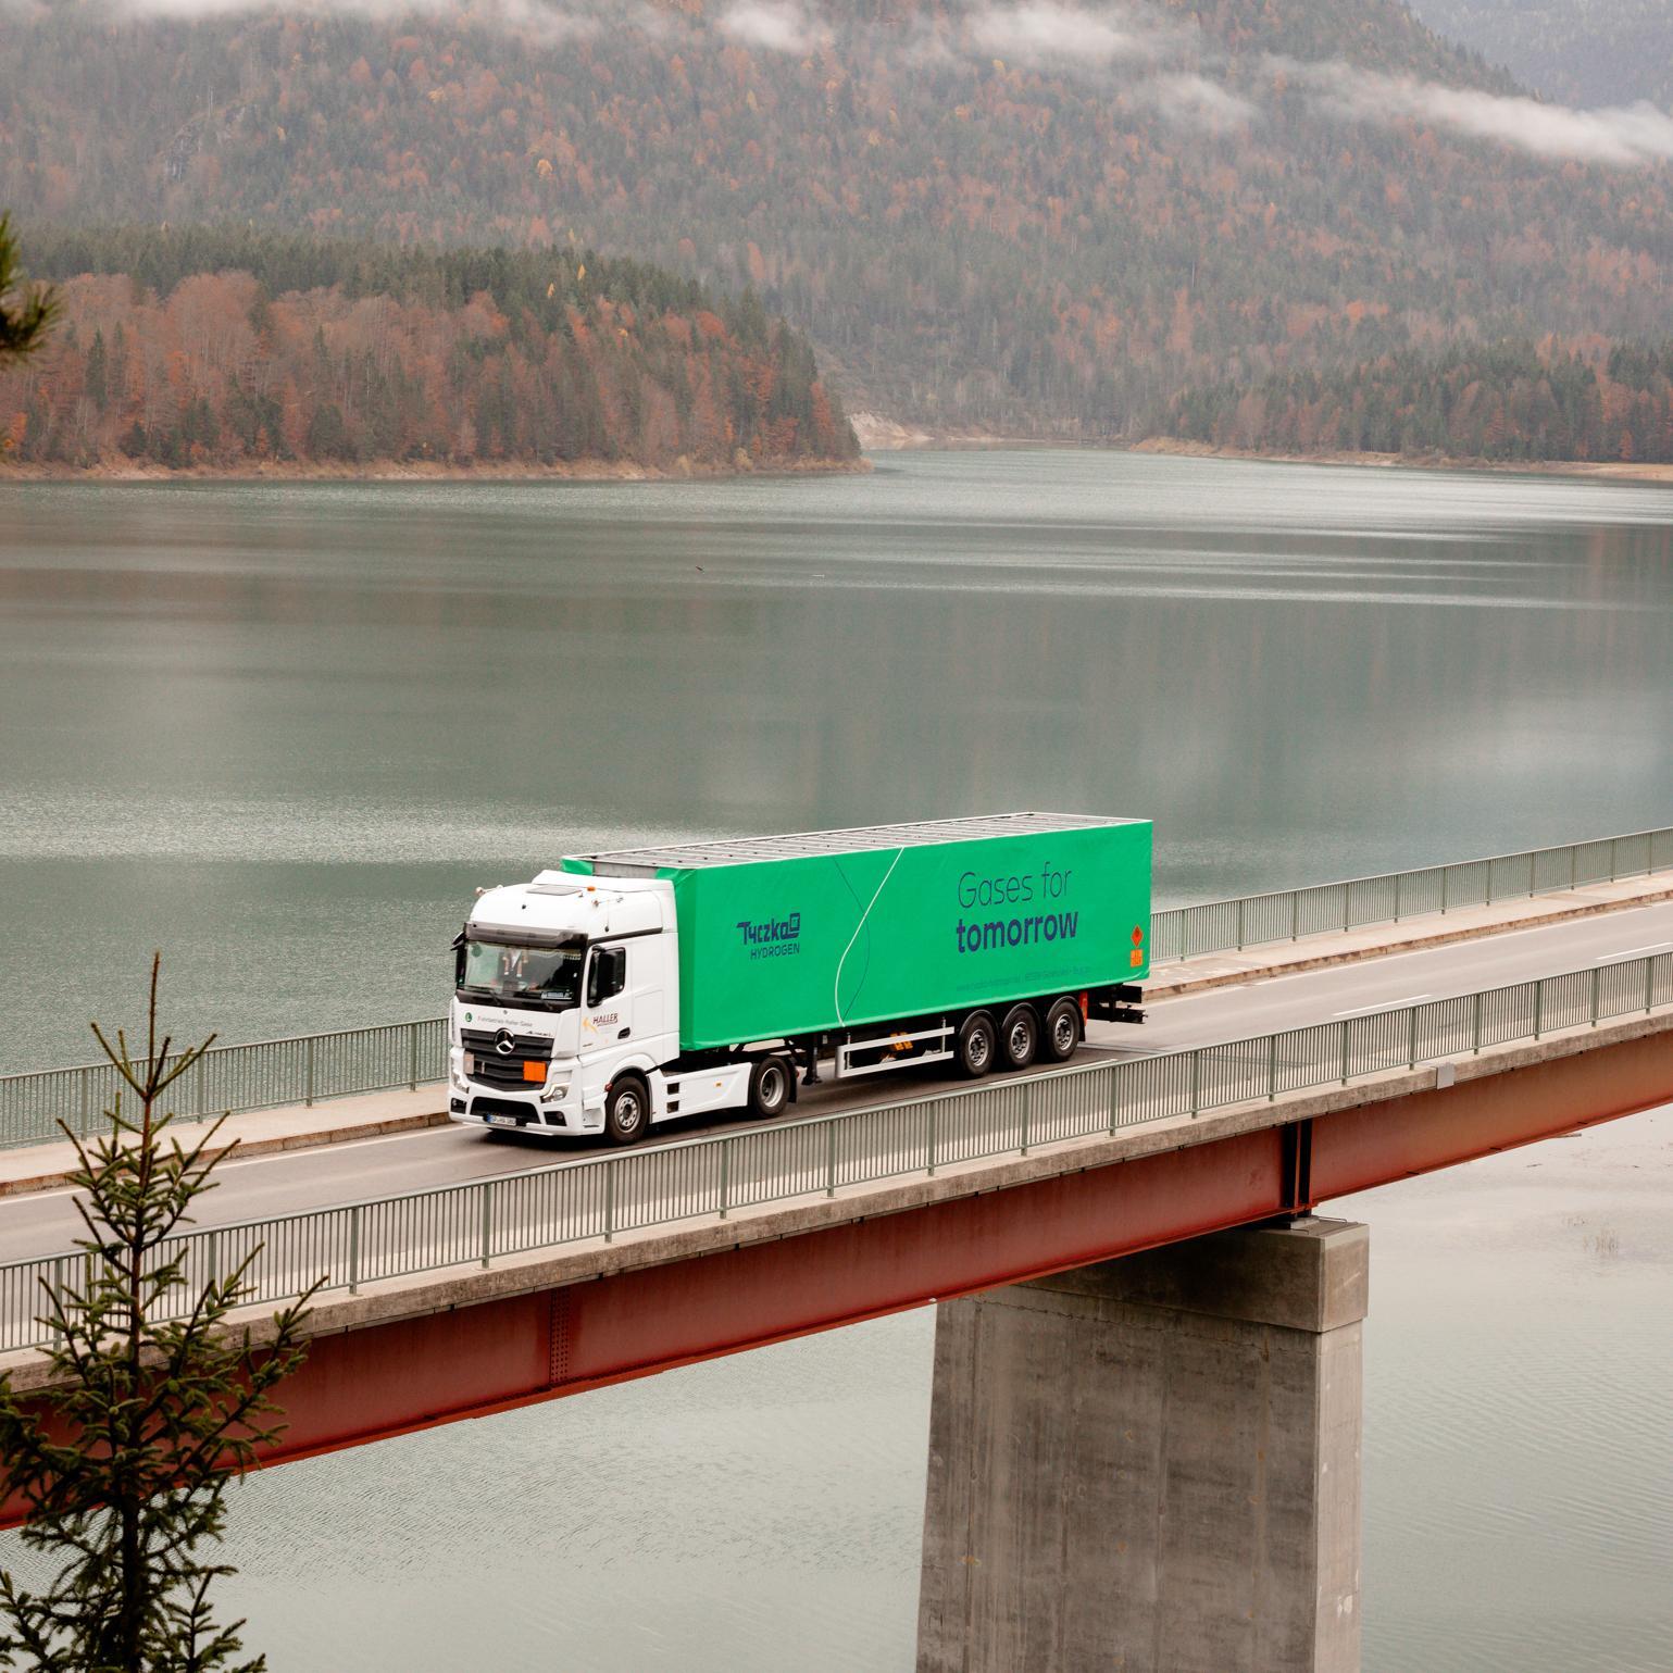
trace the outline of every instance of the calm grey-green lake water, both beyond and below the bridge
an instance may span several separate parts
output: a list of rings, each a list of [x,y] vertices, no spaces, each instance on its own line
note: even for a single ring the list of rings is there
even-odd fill
[[[1665,823],[1670,723],[1650,487],[1097,453],[0,487],[0,1072],[82,1061],[154,945],[187,1029],[438,1014],[472,888],[581,847],[1144,813],[1171,902]],[[1673,1153],[1609,1144],[1353,1205],[1374,1673],[1673,1668]],[[908,1668],[929,1340],[278,1471],[238,1604],[276,1670]]]

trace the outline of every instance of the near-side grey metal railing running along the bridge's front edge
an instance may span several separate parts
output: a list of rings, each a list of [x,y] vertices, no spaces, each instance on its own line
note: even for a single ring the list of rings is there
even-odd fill
[[[157,1258],[186,1256],[182,1312],[206,1278],[251,1253],[251,1302],[289,1300],[316,1278],[328,1290],[356,1290],[380,1278],[489,1266],[587,1238],[611,1241],[646,1226],[835,1196],[845,1186],[929,1176],[955,1163],[1026,1156],[1041,1144],[1345,1086],[1666,1005],[1673,1005],[1673,954],[1663,952],[1258,1039],[214,1226],[174,1240]],[[0,1266],[0,1352],[47,1342],[37,1317],[42,1283],[64,1283],[85,1258],[65,1253]]]

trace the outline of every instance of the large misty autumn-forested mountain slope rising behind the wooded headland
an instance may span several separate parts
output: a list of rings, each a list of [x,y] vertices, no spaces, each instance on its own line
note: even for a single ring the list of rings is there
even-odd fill
[[[850,407],[1034,433],[1665,328],[1656,134],[1543,112],[1395,0],[154,3],[8,17],[27,221],[596,246],[753,284]]]

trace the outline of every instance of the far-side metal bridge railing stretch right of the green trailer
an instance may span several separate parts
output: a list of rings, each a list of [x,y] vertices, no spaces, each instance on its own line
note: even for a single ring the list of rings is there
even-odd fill
[[[1151,962],[1241,952],[1305,935],[1399,923],[1424,913],[1527,900],[1666,870],[1673,870],[1673,828],[1501,853],[1459,865],[1430,865],[1417,872],[1387,872],[1241,900],[1213,900],[1200,907],[1173,907],[1151,917]]]

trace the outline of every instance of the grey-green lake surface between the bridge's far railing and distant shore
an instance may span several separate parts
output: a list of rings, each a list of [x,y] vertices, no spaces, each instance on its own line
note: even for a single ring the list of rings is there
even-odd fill
[[[570,845],[1143,811],[1181,898],[1655,823],[1670,504],[1091,453],[7,487],[0,1056],[77,1056],[156,940],[231,1036],[433,1012],[407,954]]]

